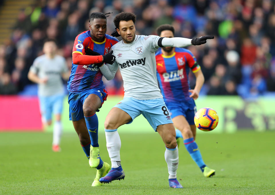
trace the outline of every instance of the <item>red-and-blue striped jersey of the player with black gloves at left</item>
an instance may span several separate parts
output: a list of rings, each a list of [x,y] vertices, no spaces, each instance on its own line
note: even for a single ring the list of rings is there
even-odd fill
[[[84,31],[74,40],[74,48],[72,53],[85,55],[85,49],[98,52],[100,55],[107,54],[110,48],[119,42],[117,38],[105,34],[103,42],[95,42],[91,38],[90,30]],[[94,64],[77,65],[72,62],[72,71],[68,80],[67,89],[69,92],[82,92],[87,89],[99,88],[103,89],[102,73]]]

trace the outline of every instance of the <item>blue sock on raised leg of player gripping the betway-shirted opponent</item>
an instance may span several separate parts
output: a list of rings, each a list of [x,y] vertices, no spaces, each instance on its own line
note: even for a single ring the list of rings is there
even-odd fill
[[[98,119],[97,115],[94,114],[89,117],[84,117],[88,129],[88,133],[91,138],[91,145],[93,147],[99,147],[98,145]]]

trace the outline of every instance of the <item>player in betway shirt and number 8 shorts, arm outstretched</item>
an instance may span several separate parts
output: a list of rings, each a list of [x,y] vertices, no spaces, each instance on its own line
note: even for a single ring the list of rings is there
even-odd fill
[[[169,186],[182,188],[176,179],[178,168],[178,147],[176,132],[163,101],[156,78],[155,51],[159,47],[185,47],[206,43],[207,38],[194,40],[186,38],[161,38],[159,36],[144,36],[135,34],[136,16],[133,13],[122,12],[115,16],[114,23],[122,41],[114,45],[111,50],[118,56],[113,65],[103,65],[101,72],[111,80],[117,69],[120,69],[124,83],[124,98],[111,109],[105,120],[105,135],[107,149],[112,162],[111,171],[100,182],[109,183],[125,177],[121,167],[121,141],[117,128],[131,123],[135,117],[143,115],[152,128],[157,131],[166,146],[164,154],[169,173]],[[146,155],[146,144],[139,146]]]

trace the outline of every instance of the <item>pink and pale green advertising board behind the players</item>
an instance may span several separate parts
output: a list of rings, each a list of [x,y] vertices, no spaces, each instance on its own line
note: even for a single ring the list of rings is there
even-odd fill
[[[111,108],[119,103],[122,96],[108,96],[100,112],[99,130],[104,131],[104,120]],[[262,97],[254,101],[244,101],[239,96],[205,96],[196,100],[197,110],[210,107],[217,111],[219,124],[215,133],[234,133],[235,131],[274,131],[275,101]],[[64,131],[74,132],[72,122],[68,119],[68,102],[64,98],[62,123]],[[41,115],[36,97],[1,96],[0,97],[0,131],[41,131]],[[47,131],[51,131],[49,127]],[[119,128],[123,132],[152,132],[152,128],[143,116],[137,117],[130,125]],[[202,131],[197,131],[203,133]]]

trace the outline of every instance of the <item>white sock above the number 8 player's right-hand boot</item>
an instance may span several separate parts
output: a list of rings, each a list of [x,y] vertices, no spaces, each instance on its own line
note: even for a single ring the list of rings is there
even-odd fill
[[[169,179],[176,178],[178,169],[178,146],[174,149],[166,148],[164,157],[168,166]]]

